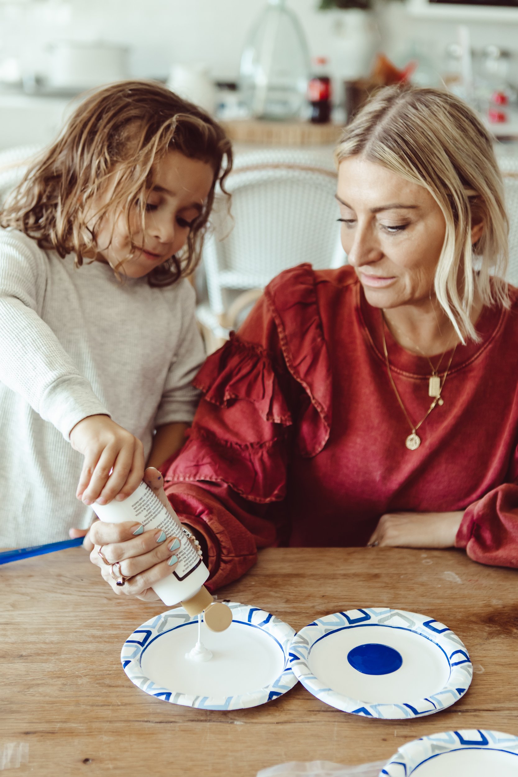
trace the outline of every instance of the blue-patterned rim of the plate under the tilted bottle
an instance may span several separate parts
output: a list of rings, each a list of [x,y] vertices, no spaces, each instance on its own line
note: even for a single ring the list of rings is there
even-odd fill
[[[244,623],[256,629],[261,629],[269,634],[276,643],[282,648],[284,653],[284,668],[282,674],[270,685],[265,688],[258,688],[256,691],[239,694],[235,696],[194,696],[185,693],[179,693],[172,688],[162,688],[155,685],[153,681],[145,677],[142,673],[141,657],[147,646],[157,636],[189,622],[197,622],[198,616],[187,615],[183,608],[176,608],[162,615],[156,615],[147,622],[139,626],[123,644],[120,653],[120,660],[123,670],[126,672],[130,681],[137,685],[141,691],[155,696],[157,699],[163,699],[171,704],[181,704],[186,707],[196,707],[197,709],[245,709],[246,707],[256,707],[265,702],[271,702],[272,699],[283,695],[297,684],[297,678],[290,667],[289,648],[294,637],[295,630],[290,625],[284,623],[280,618],[271,615],[269,612],[260,610],[257,607],[249,605],[240,605],[237,601],[228,602],[232,610],[232,619],[236,623]]]

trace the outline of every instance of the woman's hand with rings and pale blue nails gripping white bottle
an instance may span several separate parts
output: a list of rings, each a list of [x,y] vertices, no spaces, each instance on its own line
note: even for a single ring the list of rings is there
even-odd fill
[[[144,472],[144,482],[172,514],[172,507],[164,491],[164,480],[158,469],[148,467]],[[71,529],[72,532],[79,532],[79,530]],[[96,521],[89,529],[85,547],[91,549],[90,560],[99,566],[103,578],[116,594],[127,594],[144,601],[156,601],[159,597],[151,586],[163,577],[167,577],[176,568],[178,563],[176,552],[180,546],[180,539],[180,537],[166,537],[159,529],[143,531],[142,525],[135,521],[123,524]],[[99,556],[99,550],[103,553],[103,558]],[[116,562],[120,564],[120,575],[130,578],[122,586],[117,586],[111,574],[111,565]]]

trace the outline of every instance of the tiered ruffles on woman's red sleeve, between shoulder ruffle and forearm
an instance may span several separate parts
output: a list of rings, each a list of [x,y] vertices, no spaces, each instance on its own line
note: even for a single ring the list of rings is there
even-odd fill
[[[204,397],[165,483],[227,483],[252,502],[282,500],[292,420],[266,350],[233,336],[194,385]]]

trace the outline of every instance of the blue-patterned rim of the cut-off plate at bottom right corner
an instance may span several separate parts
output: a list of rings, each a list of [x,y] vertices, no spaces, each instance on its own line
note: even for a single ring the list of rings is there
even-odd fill
[[[463,729],[461,731],[434,733],[431,737],[422,737],[407,742],[381,769],[380,777],[381,775],[409,777],[418,766],[428,761],[429,758],[464,749],[499,750],[513,753],[516,755],[516,773],[518,773],[518,737],[500,731]]]

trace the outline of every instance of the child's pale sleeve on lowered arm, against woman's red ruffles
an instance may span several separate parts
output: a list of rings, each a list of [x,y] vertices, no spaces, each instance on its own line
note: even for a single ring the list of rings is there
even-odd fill
[[[180,336],[155,416],[156,427],[173,421],[190,423],[200,399],[201,392],[192,385],[193,378],[205,358],[203,340],[194,315],[196,294],[188,280],[180,283],[179,299],[182,302]]]

